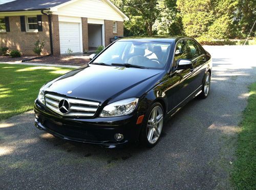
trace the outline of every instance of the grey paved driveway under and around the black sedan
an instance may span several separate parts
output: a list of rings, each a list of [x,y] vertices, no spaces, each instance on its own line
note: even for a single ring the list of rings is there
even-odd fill
[[[71,143],[33,126],[33,112],[0,123],[2,189],[226,189],[256,46],[206,46],[214,68],[209,97],[167,122],[152,149]]]

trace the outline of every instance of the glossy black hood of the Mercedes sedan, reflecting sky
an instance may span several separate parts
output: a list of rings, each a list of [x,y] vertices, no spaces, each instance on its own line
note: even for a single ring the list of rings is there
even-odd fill
[[[53,80],[46,85],[45,91],[101,103],[113,102],[140,97],[153,88],[164,73],[164,70],[90,64]]]

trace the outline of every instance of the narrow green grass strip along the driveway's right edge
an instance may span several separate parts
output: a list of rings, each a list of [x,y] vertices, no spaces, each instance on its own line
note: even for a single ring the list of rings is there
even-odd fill
[[[256,83],[250,87],[241,129],[231,179],[236,189],[256,189]]]

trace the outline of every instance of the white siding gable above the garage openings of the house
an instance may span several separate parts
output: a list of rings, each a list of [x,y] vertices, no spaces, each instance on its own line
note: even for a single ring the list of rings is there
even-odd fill
[[[123,21],[122,16],[104,0],[79,0],[58,8],[53,14]]]

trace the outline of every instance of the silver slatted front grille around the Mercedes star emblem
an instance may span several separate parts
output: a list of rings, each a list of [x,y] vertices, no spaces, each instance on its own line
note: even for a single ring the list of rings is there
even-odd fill
[[[70,104],[69,112],[67,114],[62,114],[58,108],[60,100],[63,99],[67,100]],[[72,117],[93,117],[99,106],[99,102],[96,101],[81,100],[53,94],[46,94],[45,101],[46,106],[52,111],[62,116]]]

